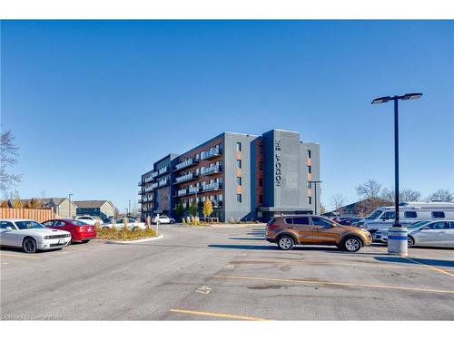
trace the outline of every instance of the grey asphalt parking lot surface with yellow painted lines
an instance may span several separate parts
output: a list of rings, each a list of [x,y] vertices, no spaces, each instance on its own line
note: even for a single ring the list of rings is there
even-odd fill
[[[452,320],[454,249],[278,250],[264,227],[163,226],[131,245],[2,248],[2,318]]]

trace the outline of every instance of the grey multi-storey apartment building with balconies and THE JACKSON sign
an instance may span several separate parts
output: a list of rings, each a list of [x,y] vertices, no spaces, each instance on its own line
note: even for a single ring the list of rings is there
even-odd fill
[[[181,155],[154,162],[139,181],[139,203],[143,217],[160,213],[180,218],[177,205],[183,205],[187,216],[195,202],[202,217],[203,202],[211,199],[212,218],[268,220],[319,207],[311,180],[320,180],[320,147],[300,141],[299,132],[222,132]]]

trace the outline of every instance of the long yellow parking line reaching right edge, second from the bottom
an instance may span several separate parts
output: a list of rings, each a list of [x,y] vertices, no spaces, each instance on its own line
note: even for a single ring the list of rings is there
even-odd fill
[[[423,293],[444,293],[454,294],[454,290],[443,290],[443,289],[430,289],[430,288],[417,288],[417,287],[401,287],[401,286],[389,286],[389,285],[377,285],[377,284],[358,284],[351,282],[333,282],[333,281],[316,281],[316,280],[304,280],[300,278],[274,278],[274,277],[235,277],[227,275],[213,275],[213,278],[231,278],[237,280],[250,280],[250,281],[272,281],[272,282],[287,282],[287,283],[301,283],[307,285],[328,285],[328,286],[343,286],[343,287],[368,287],[368,288],[383,288],[383,289],[397,289],[397,290],[409,290]]]

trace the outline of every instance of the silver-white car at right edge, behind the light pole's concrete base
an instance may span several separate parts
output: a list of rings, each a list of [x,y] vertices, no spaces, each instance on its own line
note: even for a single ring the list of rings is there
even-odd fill
[[[454,220],[421,221],[408,227],[409,248],[419,247],[446,247],[454,248]],[[388,241],[389,231],[382,235]]]

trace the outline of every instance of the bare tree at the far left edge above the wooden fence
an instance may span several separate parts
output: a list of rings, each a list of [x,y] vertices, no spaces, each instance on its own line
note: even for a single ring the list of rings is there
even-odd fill
[[[6,191],[22,181],[22,175],[8,173],[6,167],[17,163],[19,147],[15,145],[15,136],[11,131],[1,133],[0,137],[0,190]]]

